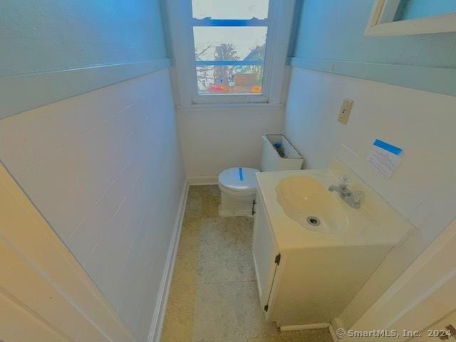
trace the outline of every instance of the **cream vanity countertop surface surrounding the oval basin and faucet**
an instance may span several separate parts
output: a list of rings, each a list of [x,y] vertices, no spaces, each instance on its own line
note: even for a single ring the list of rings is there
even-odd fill
[[[323,186],[338,183],[338,177],[348,175],[351,190],[362,190],[366,199],[360,209],[350,207],[338,198],[348,217],[348,228],[336,234],[313,232],[291,219],[277,200],[276,187],[286,177],[306,176],[318,180]],[[346,165],[334,160],[328,169],[257,172],[258,196],[266,207],[266,215],[274,231],[280,250],[326,247],[396,246],[402,244],[414,227],[399,212],[359,179]]]

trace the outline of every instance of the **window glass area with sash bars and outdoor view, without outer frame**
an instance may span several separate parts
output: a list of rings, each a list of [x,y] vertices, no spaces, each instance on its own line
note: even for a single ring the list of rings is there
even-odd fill
[[[192,0],[199,95],[262,94],[269,0]]]

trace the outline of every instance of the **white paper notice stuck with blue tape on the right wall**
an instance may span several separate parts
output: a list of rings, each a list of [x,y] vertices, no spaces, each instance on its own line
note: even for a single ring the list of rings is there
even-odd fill
[[[402,160],[401,153],[402,148],[376,139],[373,142],[373,149],[368,155],[368,163],[383,176],[389,178]]]

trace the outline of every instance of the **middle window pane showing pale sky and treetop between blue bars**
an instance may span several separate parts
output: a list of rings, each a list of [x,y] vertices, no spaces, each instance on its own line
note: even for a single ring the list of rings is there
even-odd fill
[[[267,27],[194,27],[197,61],[264,60]]]

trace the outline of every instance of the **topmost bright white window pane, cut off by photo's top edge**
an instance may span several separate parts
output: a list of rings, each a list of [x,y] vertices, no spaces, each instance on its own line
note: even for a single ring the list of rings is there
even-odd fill
[[[192,0],[193,18],[266,19],[269,0]]]

